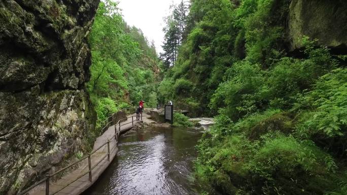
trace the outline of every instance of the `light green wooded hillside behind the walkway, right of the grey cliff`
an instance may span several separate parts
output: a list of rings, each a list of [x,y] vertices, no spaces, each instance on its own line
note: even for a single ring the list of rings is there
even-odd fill
[[[141,99],[146,106],[156,106],[160,68],[154,44],[140,29],[124,22],[117,3],[99,4],[89,44],[92,65],[86,87],[97,112],[97,126]]]

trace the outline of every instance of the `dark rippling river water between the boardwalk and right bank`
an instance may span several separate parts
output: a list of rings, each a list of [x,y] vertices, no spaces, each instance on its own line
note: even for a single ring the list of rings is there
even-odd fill
[[[194,180],[199,129],[153,128],[120,138],[117,157],[84,194],[199,194]]]

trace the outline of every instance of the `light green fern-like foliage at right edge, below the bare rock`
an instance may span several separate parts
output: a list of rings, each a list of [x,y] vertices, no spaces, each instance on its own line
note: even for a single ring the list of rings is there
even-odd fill
[[[298,128],[305,135],[346,136],[347,132],[347,69],[335,69],[323,75],[314,90],[299,101],[313,107],[302,116]]]

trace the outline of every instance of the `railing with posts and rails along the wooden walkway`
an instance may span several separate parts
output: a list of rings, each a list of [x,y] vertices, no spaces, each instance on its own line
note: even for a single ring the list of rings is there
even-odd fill
[[[92,182],[92,170],[98,166],[106,157],[108,159],[108,161],[110,161],[110,154],[113,152],[113,150],[117,147],[117,144],[118,142],[116,142],[115,146],[110,150],[110,139],[113,139],[115,138],[115,140],[117,141],[118,140],[118,137],[121,133],[121,127],[123,127],[124,125],[128,125],[128,124],[132,124],[132,126],[134,126],[134,116],[136,117],[136,115],[132,115],[132,116],[129,116],[127,118],[124,118],[124,119],[120,119],[116,124],[115,124],[115,134],[109,138],[107,140],[106,143],[100,145],[99,147],[97,147],[96,149],[94,149],[93,151],[91,151],[88,155],[86,155],[85,157],[83,157],[82,159],[76,161],[75,163],[71,164],[71,165],[68,165],[62,169],[60,169],[59,171],[56,171],[54,172],[53,174],[47,174],[46,177],[40,181],[38,181],[37,183],[31,185],[30,187],[26,188],[25,190],[23,191],[19,191],[17,193],[17,195],[24,195],[25,193],[29,192],[31,189],[33,189],[34,187],[42,184],[45,182],[45,187],[46,187],[46,195],[54,195],[56,193],[58,193],[59,191],[63,190],[65,187],[67,187],[68,185],[74,183],[75,181],[77,181],[78,179],[82,178],[83,176],[85,176],[86,174],[88,174],[88,179],[89,179],[89,182]],[[110,116],[112,117],[112,116]],[[131,122],[129,123],[125,123],[125,124],[121,124],[121,121],[123,120],[128,120],[128,119],[132,119]],[[138,115],[138,118],[140,119],[141,118],[141,121],[142,121],[142,113]],[[109,118],[108,118],[109,119]],[[112,122],[112,121],[111,121]],[[108,123],[110,124],[110,122]],[[118,126],[118,129],[117,129],[117,126]],[[95,165],[91,166],[91,155],[94,154],[96,151],[98,151],[100,148],[102,148],[103,146],[105,146],[107,144],[107,148],[108,148],[108,152],[105,156],[103,156]],[[75,180],[73,181],[70,181],[68,182],[67,184],[65,184],[63,187],[61,187],[60,189],[52,192],[52,193],[49,193],[49,182],[50,182],[50,178],[52,178],[53,176],[61,173],[62,171],[65,171],[66,169],[68,168],[71,168],[72,166],[75,166],[79,163],[81,163],[83,160],[85,159],[88,159],[88,171],[86,171],[85,173],[83,173],[82,175],[78,176]]]

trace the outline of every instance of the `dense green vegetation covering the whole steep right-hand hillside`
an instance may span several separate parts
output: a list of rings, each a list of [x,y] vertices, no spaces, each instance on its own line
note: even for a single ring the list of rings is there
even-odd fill
[[[347,4],[303,2],[190,3],[187,35],[158,93],[215,116],[197,146],[196,174],[222,194],[347,194],[347,53],[316,39],[334,35],[326,20],[345,28]],[[300,5],[311,16],[300,19]]]

